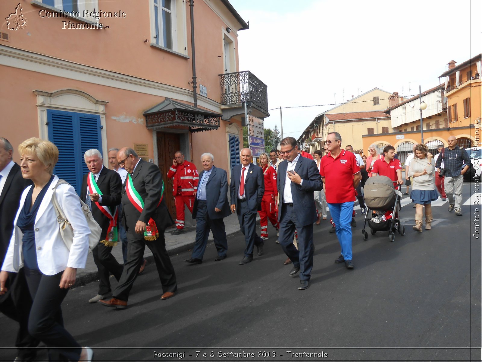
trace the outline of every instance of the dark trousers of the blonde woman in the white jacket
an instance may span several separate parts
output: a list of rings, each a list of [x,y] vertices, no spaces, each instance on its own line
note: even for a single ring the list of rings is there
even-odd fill
[[[59,287],[63,271],[55,275],[45,275],[39,270],[25,267],[23,269],[33,301],[28,318],[28,332],[49,348],[49,360],[79,361],[81,347],[64,328],[60,308],[68,292],[68,289]]]

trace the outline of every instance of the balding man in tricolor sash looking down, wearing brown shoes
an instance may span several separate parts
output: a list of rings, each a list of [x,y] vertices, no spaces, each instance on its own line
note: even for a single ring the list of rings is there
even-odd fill
[[[163,199],[164,182],[156,165],[139,158],[129,147],[117,153],[119,165],[129,175],[122,188],[123,223],[127,231],[127,263],[120,277],[112,299],[99,303],[124,309],[129,292],[137,278],[147,247],[154,255],[162,285],[161,299],[168,299],[177,291],[174,267],[166,251],[164,229],[174,224]]]

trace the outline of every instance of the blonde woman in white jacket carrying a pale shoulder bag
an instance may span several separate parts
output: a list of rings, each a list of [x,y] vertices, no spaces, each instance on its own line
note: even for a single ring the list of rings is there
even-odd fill
[[[38,138],[27,139],[18,147],[20,167],[27,187],[20,199],[12,239],[0,272],[0,295],[7,291],[8,272],[24,268],[32,308],[28,333],[44,342],[49,359],[91,361],[91,348],[80,347],[64,328],[61,304],[68,289],[75,283],[77,268],[84,268],[89,251],[90,229],[79,196],[72,186],[62,184],[55,195],[72,225],[72,246],[67,246],[59,232],[52,203],[58,177],[53,175],[58,161],[54,143]]]

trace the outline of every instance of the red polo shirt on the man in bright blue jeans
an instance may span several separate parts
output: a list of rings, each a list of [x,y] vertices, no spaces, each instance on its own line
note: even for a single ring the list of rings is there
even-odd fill
[[[325,178],[326,202],[341,204],[355,201],[355,188],[353,187],[353,175],[360,172],[355,155],[342,150],[333,158],[331,153],[321,157],[320,175]]]

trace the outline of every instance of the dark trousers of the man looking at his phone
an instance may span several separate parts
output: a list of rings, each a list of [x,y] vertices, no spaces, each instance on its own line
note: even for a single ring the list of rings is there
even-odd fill
[[[298,249],[293,245],[295,229],[298,233]],[[313,269],[313,224],[302,225],[296,218],[295,208],[281,205],[280,245],[295,267],[300,267],[300,279],[309,280]]]

